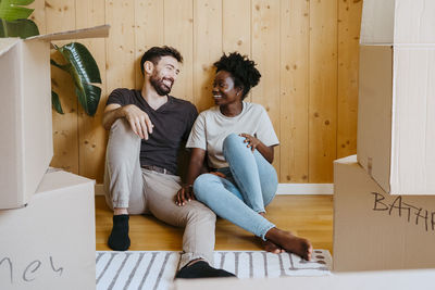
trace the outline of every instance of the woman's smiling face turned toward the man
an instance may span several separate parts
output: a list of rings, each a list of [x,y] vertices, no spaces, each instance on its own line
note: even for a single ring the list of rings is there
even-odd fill
[[[217,105],[227,105],[241,102],[243,89],[236,87],[231,73],[220,71],[216,73],[213,81],[213,99]]]

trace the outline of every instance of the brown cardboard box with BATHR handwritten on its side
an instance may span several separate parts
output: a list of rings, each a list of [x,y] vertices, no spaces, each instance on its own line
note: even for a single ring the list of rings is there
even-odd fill
[[[335,272],[435,268],[435,197],[390,196],[358,164],[334,162]]]

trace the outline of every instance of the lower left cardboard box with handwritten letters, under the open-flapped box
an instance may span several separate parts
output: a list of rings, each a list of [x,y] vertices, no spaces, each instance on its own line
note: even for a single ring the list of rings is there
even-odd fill
[[[0,211],[0,289],[95,289],[94,184],[48,173],[27,206]]]

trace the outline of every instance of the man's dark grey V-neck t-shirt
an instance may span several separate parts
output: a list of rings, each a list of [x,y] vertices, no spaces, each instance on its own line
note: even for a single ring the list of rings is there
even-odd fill
[[[107,104],[135,104],[146,112],[154,127],[148,140],[140,144],[140,165],[154,165],[177,173],[179,148],[189,136],[198,111],[188,101],[167,96],[167,102],[158,110],[152,109],[139,90],[115,89]]]

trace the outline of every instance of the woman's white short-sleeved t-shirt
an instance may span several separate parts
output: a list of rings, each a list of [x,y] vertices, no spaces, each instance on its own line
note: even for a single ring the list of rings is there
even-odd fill
[[[201,112],[191,128],[186,148],[206,150],[209,166],[212,168],[228,167],[222,153],[222,144],[232,133],[251,136],[257,134],[257,138],[268,147],[279,143],[264,108],[243,102],[241,113],[234,117],[222,114],[217,105]]]

